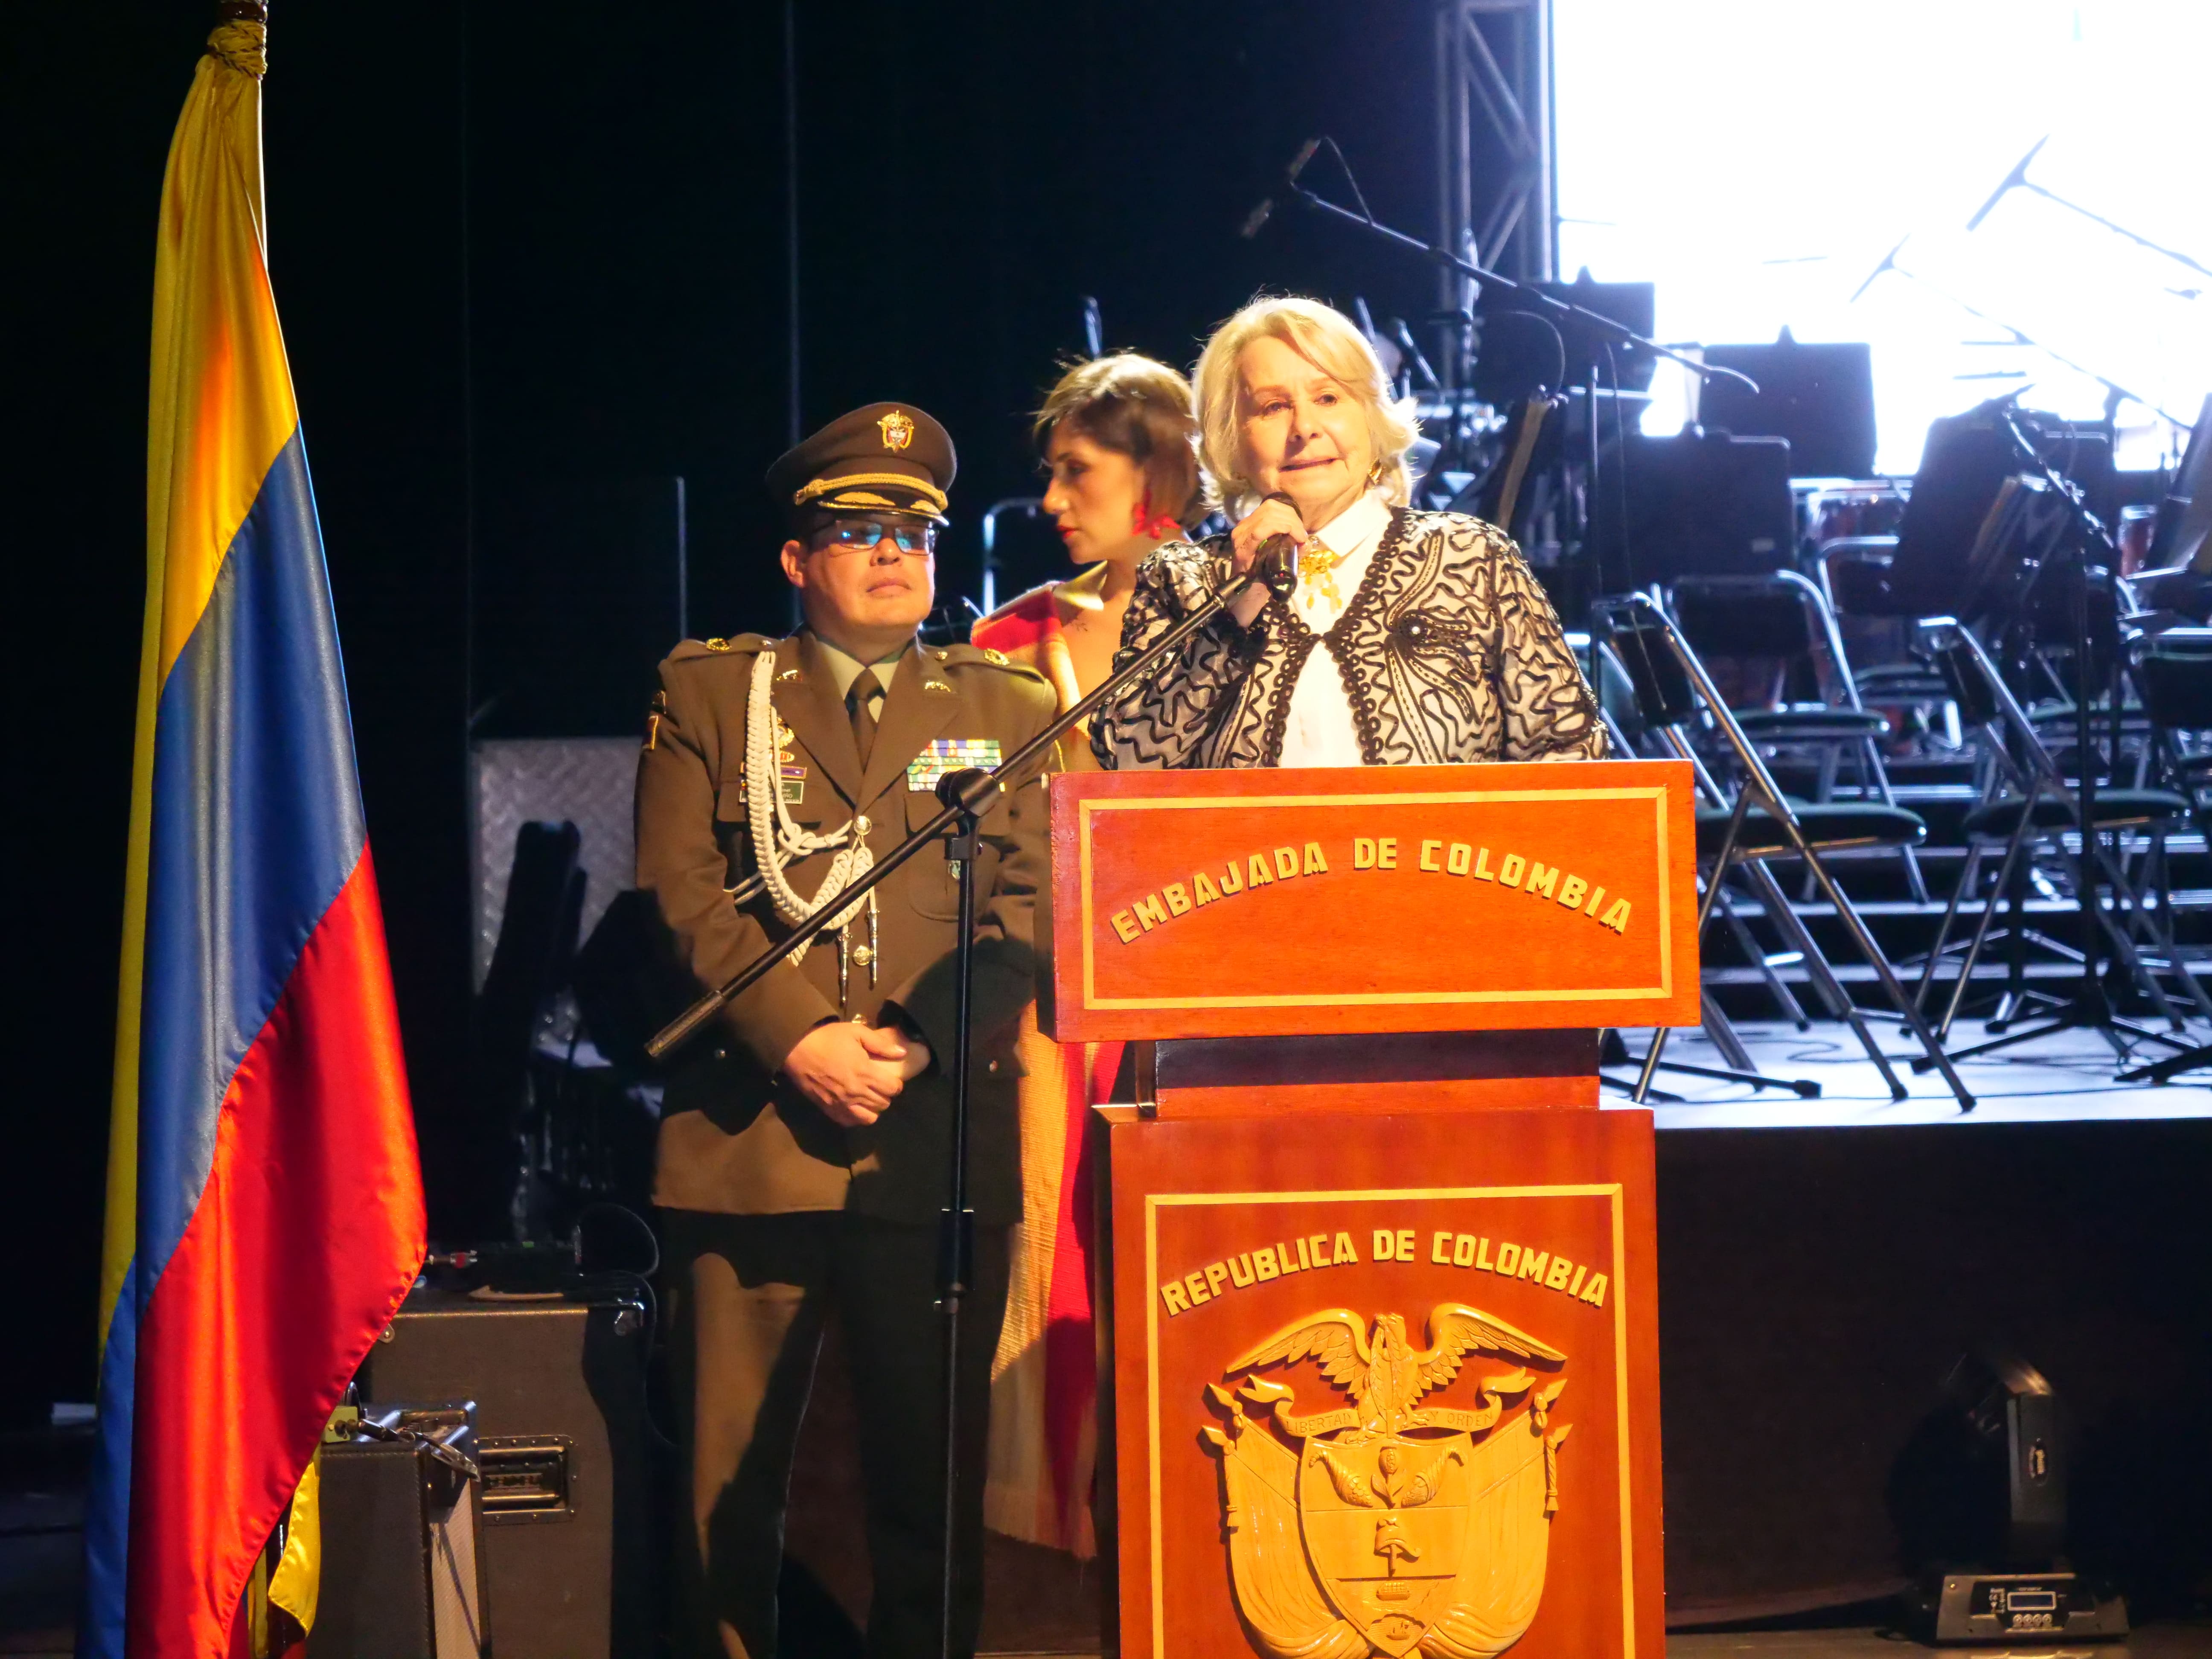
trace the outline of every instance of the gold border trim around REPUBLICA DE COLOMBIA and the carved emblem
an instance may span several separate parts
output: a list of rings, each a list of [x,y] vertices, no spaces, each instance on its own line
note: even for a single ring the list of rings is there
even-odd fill
[[[1615,792],[1619,794],[1619,792]],[[1405,799],[1405,796],[1398,796]],[[1181,803],[1164,803],[1181,805]],[[1663,869],[1663,865],[1661,865]],[[1088,887],[1088,883],[1086,883]],[[1422,1186],[1422,1188],[1356,1188],[1334,1192],[1150,1192],[1144,1199],[1144,1369],[1146,1369],[1146,1460],[1150,1471],[1150,1604],[1152,1655],[1168,1652],[1168,1604],[1164,1571],[1161,1482],[1159,1482],[1159,1212],[1219,1203],[1367,1203],[1374,1199],[1610,1199],[1613,1232],[1613,1398],[1619,1431],[1619,1500],[1621,1500],[1621,1657],[1637,1652],[1635,1595],[1635,1511],[1630,1504],[1630,1425],[1628,1425],[1628,1228],[1626,1188],[1619,1181],[1564,1181],[1555,1186]]]

